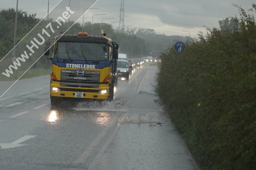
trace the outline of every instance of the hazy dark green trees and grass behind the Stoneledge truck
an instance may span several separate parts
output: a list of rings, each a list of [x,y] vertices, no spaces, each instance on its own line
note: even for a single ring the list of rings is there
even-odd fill
[[[14,46],[14,23],[15,23],[15,15],[16,11],[14,8],[9,9],[1,9],[0,10],[0,60],[3,59],[6,54]],[[36,14],[28,14],[26,11],[19,10],[18,11],[18,23],[17,23],[17,43],[19,43],[28,32],[40,22],[41,19],[36,17]],[[52,23],[53,27],[57,27],[57,23],[53,19],[49,19]],[[47,25],[47,21],[45,25]],[[74,24],[73,21],[70,23],[63,23],[63,29],[66,30],[69,25]],[[156,34],[154,30],[151,29],[141,29],[138,28],[126,28],[125,30],[114,29],[113,25],[107,23],[95,23],[93,26],[91,22],[85,22],[84,30],[89,33],[89,35],[94,30],[94,35],[100,35],[101,30],[104,30],[107,33],[107,36],[112,38],[113,41],[116,41],[120,47],[120,53],[127,54],[129,58],[138,58],[145,56],[153,56],[157,57],[157,55],[168,48],[170,42],[174,42],[174,40],[186,40],[187,37],[181,36],[166,36]],[[55,36],[60,35],[60,33],[64,32],[64,30],[60,30],[60,32],[55,32]],[[76,35],[77,32],[81,32],[82,25],[80,23],[75,23],[69,30],[71,35]],[[54,37],[50,38],[51,44],[54,43]],[[52,54],[52,50],[50,50],[50,55]],[[19,57],[19,54],[16,54],[16,57]],[[28,63],[29,64],[29,63]],[[32,65],[33,63],[31,63]],[[48,70],[51,67],[51,61],[45,59],[45,57],[41,57],[30,69],[33,71],[29,71],[22,78],[28,78],[33,76],[39,76],[44,74],[42,70]],[[25,72],[25,70],[19,70],[21,72]],[[47,72],[47,71],[46,71]],[[47,73],[48,74],[48,73]],[[29,75],[29,76],[28,76]],[[16,80],[20,76],[20,73],[17,73],[12,78],[7,78],[0,74],[1,80],[13,81]]]

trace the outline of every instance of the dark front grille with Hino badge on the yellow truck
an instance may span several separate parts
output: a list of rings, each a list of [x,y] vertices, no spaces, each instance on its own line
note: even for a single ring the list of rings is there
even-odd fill
[[[61,86],[99,88],[100,71],[86,71],[83,69],[61,70]],[[77,74],[78,73],[78,74]],[[79,75],[80,74],[80,75]]]

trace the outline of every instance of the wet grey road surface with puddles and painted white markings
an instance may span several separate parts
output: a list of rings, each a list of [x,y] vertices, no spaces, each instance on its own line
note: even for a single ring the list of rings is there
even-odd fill
[[[115,98],[51,108],[49,76],[20,80],[0,98],[3,170],[196,169],[168,115],[154,102],[157,66],[118,80]]]

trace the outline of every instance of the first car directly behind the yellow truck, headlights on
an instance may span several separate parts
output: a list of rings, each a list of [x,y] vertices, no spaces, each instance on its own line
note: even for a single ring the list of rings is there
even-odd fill
[[[129,66],[129,61],[127,59],[118,58],[117,60],[117,74],[118,77],[126,78],[129,80],[131,73],[131,66]]]

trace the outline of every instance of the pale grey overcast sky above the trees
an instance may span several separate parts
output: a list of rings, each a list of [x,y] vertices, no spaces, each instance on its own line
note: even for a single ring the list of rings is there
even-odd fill
[[[0,8],[16,8],[17,0],[1,0]],[[96,0],[88,0],[96,2]],[[50,10],[60,0],[50,0]],[[70,7],[77,15],[72,20],[78,19],[83,14],[87,0],[70,0]],[[62,0],[61,3],[69,5],[69,0]],[[198,31],[205,32],[206,27],[219,26],[218,21],[229,16],[239,15],[237,8],[232,4],[242,6],[246,11],[252,8],[255,0],[124,0],[124,23],[130,28],[150,28],[158,34],[182,35],[195,37]],[[29,14],[36,13],[38,18],[47,15],[48,0],[19,0],[18,8],[27,11]],[[88,4],[87,4],[88,5]],[[85,14],[85,22],[92,22],[94,14],[106,14],[94,16],[94,23],[119,22],[121,0],[98,0]],[[254,14],[254,12],[253,12]],[[50,15],[54,17],[55,14]],[[114,19],[104,19],[114,18]],[[82,19],[78,22],[82,23]],[[118,23],[113,23],[118,27]],[[184,31],[187,32],[184,32]]]

